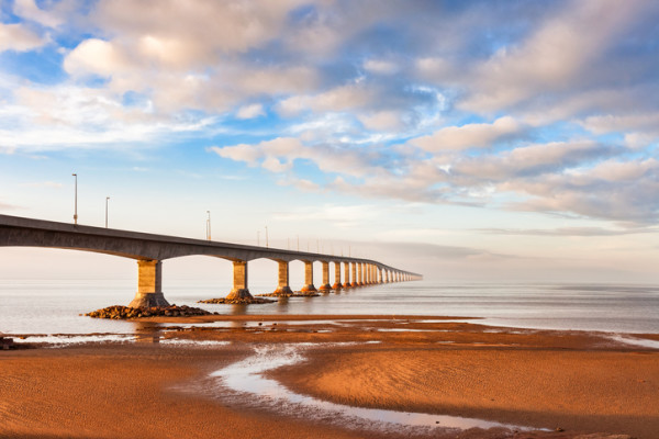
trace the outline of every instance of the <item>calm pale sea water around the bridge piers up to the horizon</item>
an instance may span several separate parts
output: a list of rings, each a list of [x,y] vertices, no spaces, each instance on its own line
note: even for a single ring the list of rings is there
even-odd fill
[[[381,314],[483,317],[483,323],[524,328],[659,334],[659,285],[459,284],[428,281],[373,285],[317,297],[291,297],[267,305],[206,305],[230,285],[169,282],[165,296],[177,305],[221,314]],[[250,285],[253,293],[271,285]],[[137,324],[79,314],[127,305],[133,281],[2,280],[0,333],[132,333]]]

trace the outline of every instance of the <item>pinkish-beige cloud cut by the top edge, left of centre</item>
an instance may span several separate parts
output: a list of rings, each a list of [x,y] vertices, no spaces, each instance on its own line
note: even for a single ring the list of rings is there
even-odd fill
[[[102,0],[93,14],[102,29],[123,38],[152,37],[157,44],[174,44],[178,48],[175,64],[193,67],[190,63],[214,63],[220,54],[244,53],[264,44],[281,32],[288,13],[300,3],[159,0],[154,8],[149,2]]]

